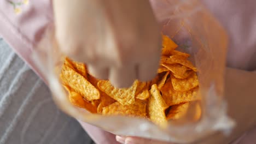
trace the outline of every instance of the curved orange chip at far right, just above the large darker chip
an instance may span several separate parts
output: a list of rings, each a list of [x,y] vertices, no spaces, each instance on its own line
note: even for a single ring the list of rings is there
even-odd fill
[[[177,79],[171,75],[172,86],[175,91],[189,91],[199,85],[197,75],[194,72],[187,79]]]

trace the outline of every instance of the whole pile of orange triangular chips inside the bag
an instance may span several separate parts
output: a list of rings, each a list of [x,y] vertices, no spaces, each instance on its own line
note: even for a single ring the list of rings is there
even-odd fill
[[[158,125],[183,118],[196,105],[193,119],[201,117],[199,81],[189,54],[162,35],[162,56],[158,75],[149,82],[136,80],[130,88],[115,88],[108,80],[98,80],[86,65],[69,58],[61,70],[63,87],[69,101],[91,113],[148,118]]]

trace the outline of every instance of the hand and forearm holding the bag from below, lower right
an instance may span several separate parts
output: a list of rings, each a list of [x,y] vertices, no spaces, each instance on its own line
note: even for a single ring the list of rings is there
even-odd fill
[[[228,105],[228,115],[236,121],[236,127],[229,136],[217,132],[213,135],[203,137],[194,143],[214,144],[230,143],[240,137],[245,131],[255,127],[255,88],[256,72],[226,68],[225,75],[225,100]],[[155,143],[167,144],[167,142],[142,139],[138,137],[116,136],[117,141],[130,143]],[[193,144],[194,144],[193,143]]]

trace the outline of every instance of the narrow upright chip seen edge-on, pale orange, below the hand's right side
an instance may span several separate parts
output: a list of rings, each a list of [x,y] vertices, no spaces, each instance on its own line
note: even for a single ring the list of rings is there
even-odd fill
[[[150,97],[147,106],[148,116],[152,122],[161,127],[165,127],[167,124],[165,110],[168,108],[168,105],[166,105],[164,99],[162,99],[157,85],[154,84],[149,93]]]

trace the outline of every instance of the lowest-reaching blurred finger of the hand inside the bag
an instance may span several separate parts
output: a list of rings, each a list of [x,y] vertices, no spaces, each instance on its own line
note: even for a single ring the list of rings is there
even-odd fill
[[[109,70],[109,81],[114,87],[130,87],[136,79],[136,69],[134,65],[125,67],[112,67]]]

